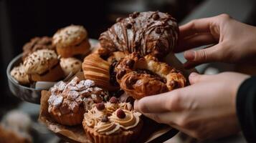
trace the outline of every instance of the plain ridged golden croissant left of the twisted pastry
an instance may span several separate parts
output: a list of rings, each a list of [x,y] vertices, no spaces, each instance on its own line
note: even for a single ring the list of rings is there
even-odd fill
[[[90,54],[85,57],[82,63],[82,71],[85,74],[85,79],[91,79],[96,85],[104,89],[113,91],[118,89],[118,84],[115,81],[115,73],[113,73],[114,66],[117,59],[121,59],[124,54],[113,54],[111,59],[113,61],[104,60],[100,54]],[[109,61],[109,62],[108,62]]]

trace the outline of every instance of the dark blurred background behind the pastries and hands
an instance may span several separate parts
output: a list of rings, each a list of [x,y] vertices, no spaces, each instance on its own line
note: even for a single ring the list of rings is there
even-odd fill
[[[52,36],[57,29],[79,24],[85,26],[90,38],[98,39],[100,33],[114,24],[118,17],[133,11],[157,10],[171,14],[179,24],[222,13],[247,24],[256,24],[254,0],[0,0],[0,119],[10,109],[16,108],[32,114],[37,120],[39,106],[12,96],[6,79],[9,61],[22,53],[22,46],[34,36]],[[182,53],[176,56],[185,61]],[[254,66],[245,64],[210,63],[196,68],[204,74],[220,71],[256,73]]]

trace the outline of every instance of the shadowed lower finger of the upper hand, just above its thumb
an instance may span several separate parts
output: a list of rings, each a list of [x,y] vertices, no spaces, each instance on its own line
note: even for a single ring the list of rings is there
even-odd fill
[[[214,36],[212,36],[212,34],[194,34],[193,36],[189,36],[185,39],[179,40],[179,44],[176,47],[176,49],[174,49],[174,52],[181,52],[187,49],[193,49],[198,46],[204,46],[215,43],[217,43],[217,41],[214,39]]]

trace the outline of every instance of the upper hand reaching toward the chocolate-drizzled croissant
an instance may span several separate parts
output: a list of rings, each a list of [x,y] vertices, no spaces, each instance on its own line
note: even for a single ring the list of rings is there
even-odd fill
[[[179,27],[179,46],[176,52],[197,46],[215,44],[207,49],[186,51],[186,68],[211,62],[248,62],[256,64],[256,28],[221,14],[206,19],[196,19]]]

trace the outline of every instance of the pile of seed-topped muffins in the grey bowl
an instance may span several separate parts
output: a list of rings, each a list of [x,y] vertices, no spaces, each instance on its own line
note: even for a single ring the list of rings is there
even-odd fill
[[[80,57],[89,52],[90,43],[85,28],[67,26],[59,29],[53,38],[35,37],[25,44],[22,63],[11,70],[11,77],[25,86],[39,81],[56,82],[80,71]]]

